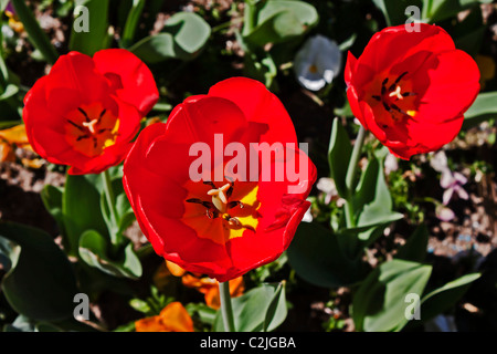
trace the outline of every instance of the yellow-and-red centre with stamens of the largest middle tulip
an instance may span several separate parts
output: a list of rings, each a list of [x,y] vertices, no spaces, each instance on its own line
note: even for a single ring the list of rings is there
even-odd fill
[[[245,231],[255,232],[261,217],[257,212],[257,185],[254,183],[192,183],[184,202],[182,221],[201,238],[224,244]]]

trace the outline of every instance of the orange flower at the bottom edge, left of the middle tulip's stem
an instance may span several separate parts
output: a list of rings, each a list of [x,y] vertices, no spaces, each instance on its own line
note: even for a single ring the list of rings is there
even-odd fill
[[[136,332],[193,332],[193,321],[183,305],[171,302],[157,316],[135,322]]]

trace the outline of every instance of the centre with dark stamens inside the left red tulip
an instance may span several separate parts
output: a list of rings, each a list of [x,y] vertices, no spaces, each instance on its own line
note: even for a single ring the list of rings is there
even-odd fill
[[[114,145],[119,119],[101,103],[82,105],[70,112],[65,125],[66,140],[75,150],[88,157],[99,156]]]

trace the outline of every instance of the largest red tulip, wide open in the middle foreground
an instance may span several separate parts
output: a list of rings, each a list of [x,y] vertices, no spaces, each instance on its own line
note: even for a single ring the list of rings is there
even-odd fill
[[[256,165],[244,162],[236,171],[229,168],[234,157],[219,159],[214,152],[209,157],[212,168],[202,168],[204,178],[194,181],[190,177],[199,158],[191,156],[194,143],[222,152],[239,143],[247,155],[254,152],[253,143],[288,145],[278,150],[284,157],[276,154],[264,162],[261,152]],[[282,103],[263,84],[244,77],[225,80],[208,95],[187,98],[167,124],[146,127],[126,158],[124,186],[155,251],[220,282],[278,258],[309,207],[305,199],[316,180],[313,163],[296,144]],[[307,167],[299,190],[288,192],[297,185],[292,178],[261,178],[263,165],[276,176],[294,163]],[[243,167],[257,178],[244,180]]]

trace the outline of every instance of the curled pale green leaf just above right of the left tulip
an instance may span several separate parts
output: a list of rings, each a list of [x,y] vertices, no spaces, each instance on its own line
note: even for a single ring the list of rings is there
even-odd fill
[[[178,12],[167,22],[163,31],[150,35],[129,48],[129,51],[147,63],[168,59],[192,60],[205,46],[211,28],[200,15]]]

